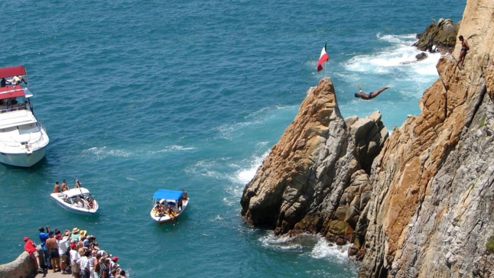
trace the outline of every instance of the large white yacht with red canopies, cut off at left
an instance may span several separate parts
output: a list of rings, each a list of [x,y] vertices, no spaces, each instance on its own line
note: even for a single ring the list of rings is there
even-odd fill
[[[0,162],[31,167],[50,139],[33,112],[24,66],[0,68]]]

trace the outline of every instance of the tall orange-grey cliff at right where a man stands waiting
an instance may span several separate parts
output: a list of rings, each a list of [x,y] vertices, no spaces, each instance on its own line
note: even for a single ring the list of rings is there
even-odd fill
[[[374,160],[362,277],[492,277],[494,2],[469,0],[461,45],[438,65],[422,113],[395,129]]]

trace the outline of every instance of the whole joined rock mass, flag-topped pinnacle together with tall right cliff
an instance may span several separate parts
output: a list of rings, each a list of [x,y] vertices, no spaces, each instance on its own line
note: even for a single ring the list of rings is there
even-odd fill
[[[244,190],[247,222],[354,242],[360,277],[494,277],[494,1],[467,0],[458,35],[462,70],[457,41],[389,138],[377,112],[342,119],[329,79],[309,89]]]

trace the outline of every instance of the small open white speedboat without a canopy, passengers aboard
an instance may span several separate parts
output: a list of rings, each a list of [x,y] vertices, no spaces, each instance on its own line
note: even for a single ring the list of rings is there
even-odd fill
[[[50,194],[58,205],[77,213],[93,214],[98,210],[98,202],[91,197],[89,190],[83,187],[73,188]]]

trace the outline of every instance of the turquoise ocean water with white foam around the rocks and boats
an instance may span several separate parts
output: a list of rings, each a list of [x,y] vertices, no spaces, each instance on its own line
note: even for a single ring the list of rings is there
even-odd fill
[[[79,227],[129,277],[355,277],[348,246],[274,237],[240,217],[245,184],[311,86],[334,82],[344,117],[381,111],[389,130],[435,79],[411,64],[431,18],[465,0],[2,1],[0,66],[25,65],[50,136],[30,169],[0,165],[0,263],[37,229]],[[329,62],[317,73],[328,40]],[[389,84],[372,101],[353,97]],[[100,202],[85,217],[49,199],[77,177]],[[186,189],[176,226],[149,217],[160,188]]]

